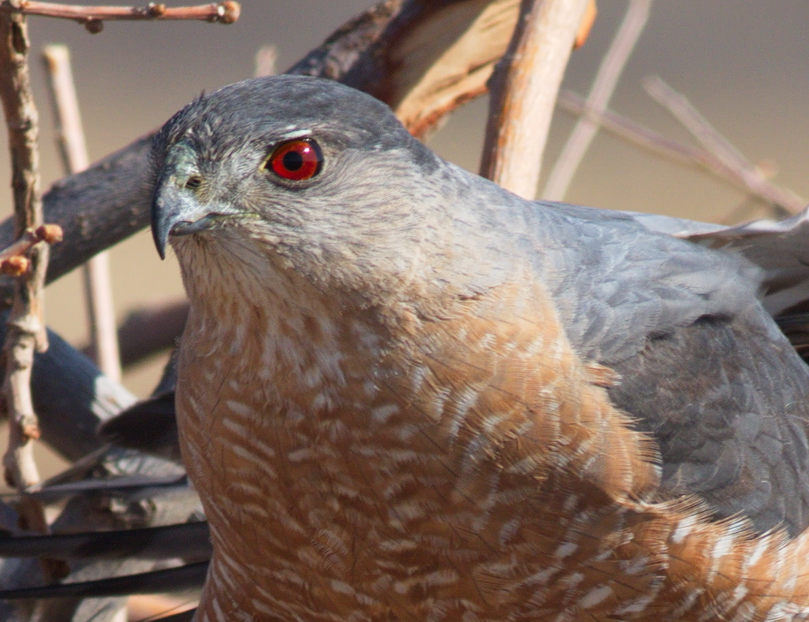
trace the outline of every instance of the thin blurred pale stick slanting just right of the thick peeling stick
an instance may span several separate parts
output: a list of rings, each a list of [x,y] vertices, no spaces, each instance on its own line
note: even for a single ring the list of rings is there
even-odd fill
[[[650,6],[651,0],[629,1],[621,28],[618,29],[612,40],[612,45],[595,76],[590,94],[587,95],[587,108],[590,110],[596,113],[606,110],[618,78],[624,70],[626,61],[629,60],[638,36],[646,25]],[[574,173],[579,163],[582,162],[596,131],[598,131],[598,125],[587,117],[582,116],[578,120],[545,184],[543,198],[550,201],[561,201],[565,197],[570,181],[573,180]]]

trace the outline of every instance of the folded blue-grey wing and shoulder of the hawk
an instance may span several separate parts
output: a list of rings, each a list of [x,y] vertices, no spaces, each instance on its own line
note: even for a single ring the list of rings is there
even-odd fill
[[[528,262],[582,358],[621,374],[609,393],[659,444],[659,497],[696,494],[716,517],[743,514],[757,531],[809,526],[809,368],[760,302],[784,272],[785,260],[768,257],[783,232],[751,251],[768,234],[712,238],[721,227],[466,183],[485,206],[461,235],[483,230],[479,243],[498,244],[487,273]]]

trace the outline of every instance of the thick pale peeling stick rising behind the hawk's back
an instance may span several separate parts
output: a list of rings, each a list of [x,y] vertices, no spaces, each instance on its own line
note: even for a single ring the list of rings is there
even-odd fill
[[[489,79],[481,175],[532,198],[557,92],[587,0],[523,0],[509,48]]]

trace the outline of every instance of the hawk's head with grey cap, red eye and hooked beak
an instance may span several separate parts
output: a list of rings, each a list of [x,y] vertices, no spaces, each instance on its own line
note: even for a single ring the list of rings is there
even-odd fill
[[[364,290],[365,274],[407,273],[423,252],[441,188],[426,179],[443,165],[377,99],[300,76],[202,96],[163,127],[152,159],[155,243],[163,256],[171,241],[187,286],[205,257],[271,256]]]

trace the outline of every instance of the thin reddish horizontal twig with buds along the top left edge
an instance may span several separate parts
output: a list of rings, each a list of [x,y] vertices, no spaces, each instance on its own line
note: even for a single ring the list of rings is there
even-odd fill
[[[206,22],[234,23],[239,19],[239,2],[209,2],[196,6],[168,7],[162,2],[146,6],[78,6],[36,0],[0,0],[0,11],[74,19],[90,32],[100,32],[104,19],[200,19]]]

